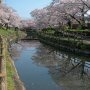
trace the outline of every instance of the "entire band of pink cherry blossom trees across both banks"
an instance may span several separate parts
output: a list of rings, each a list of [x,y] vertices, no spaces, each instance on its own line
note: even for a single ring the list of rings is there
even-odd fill
[[[82,29],[86,28],[86,21],[90,19],[90,0],[52,0],[50,5],[31,12],[33,20],[22,20],[17,12],[0,4],[0,26],[5,27],[63,27],[78,24]]]

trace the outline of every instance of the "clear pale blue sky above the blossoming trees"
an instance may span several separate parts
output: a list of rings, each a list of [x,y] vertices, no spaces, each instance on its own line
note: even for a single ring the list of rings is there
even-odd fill
[[[52,0],[4,0],[13,7],[22,18],[30,18],[30,12],[34,9],[43,8],[50,4]]]

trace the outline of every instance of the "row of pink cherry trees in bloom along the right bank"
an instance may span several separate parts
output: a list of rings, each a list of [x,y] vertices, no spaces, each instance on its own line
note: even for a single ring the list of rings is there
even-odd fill
[[[31,12],[39,29],[49,26],[65,26],[69,28],[78,24],[82,29],[90,18],[90,0],[52,0],[51,4],[43,9],[35,9]]]

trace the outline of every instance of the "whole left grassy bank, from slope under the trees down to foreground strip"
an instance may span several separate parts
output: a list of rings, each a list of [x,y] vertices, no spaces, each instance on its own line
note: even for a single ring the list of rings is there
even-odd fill
[[[17,38],[17,31],[15,30],[4,30],[0,29],[0,35],[2,35],[4,41],[4,58],[6,60],[6,72],[7,72],[7,90],[16,90],[15,89],[15,81],[14,81],[14,74],[16,74],[15,68],[12,64],[12,60],[10,54],[8,52],[8,41],[7,40],[14,40]],[[19,37],[25,36],[25,34],[21,31],[18,32]]]

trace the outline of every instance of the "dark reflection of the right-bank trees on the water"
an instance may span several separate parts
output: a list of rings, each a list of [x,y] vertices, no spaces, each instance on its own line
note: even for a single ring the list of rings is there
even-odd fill
[[[41,45],[33,60],[49,68],[52,79],[65,90],[90,90],[90,58],[53,51]]]

